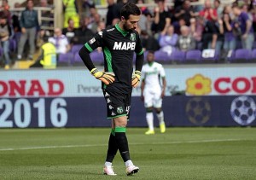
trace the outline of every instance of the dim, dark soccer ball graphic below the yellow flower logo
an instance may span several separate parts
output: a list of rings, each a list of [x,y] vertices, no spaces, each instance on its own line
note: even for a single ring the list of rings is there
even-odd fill
[[[195,125],[205,124],[211,116],[211,105],[203,101],[201,97],[189,99],[186,105],[186,113],[189,121]]]

